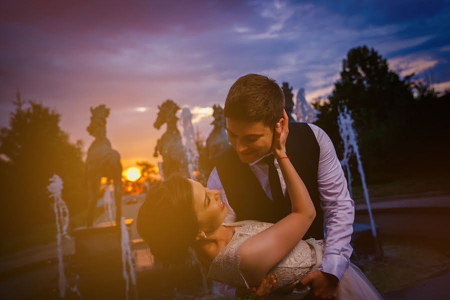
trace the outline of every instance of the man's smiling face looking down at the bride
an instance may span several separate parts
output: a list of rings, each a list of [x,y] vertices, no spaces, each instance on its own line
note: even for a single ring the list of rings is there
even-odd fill
[[[240,161],[251,163],[270,151],[273,130],[262,122],[226,118],[226,136]]]

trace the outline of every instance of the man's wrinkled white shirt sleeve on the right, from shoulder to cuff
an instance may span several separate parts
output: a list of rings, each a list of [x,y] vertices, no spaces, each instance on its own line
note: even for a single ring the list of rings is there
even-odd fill
[[[325,246],[319,270],[335,275],[340,281],[353,251],[350,239],[353,232],[354,202],[330,138],[319,127],[310,126],[320,147],[317,184],[325,225]]]

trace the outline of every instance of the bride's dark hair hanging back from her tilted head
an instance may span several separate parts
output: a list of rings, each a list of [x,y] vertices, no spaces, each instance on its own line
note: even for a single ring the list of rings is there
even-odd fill
[[[198,233],[191,183],[174,174],[151,188],[139,208],[136,228],[156,262],[183,263]]]

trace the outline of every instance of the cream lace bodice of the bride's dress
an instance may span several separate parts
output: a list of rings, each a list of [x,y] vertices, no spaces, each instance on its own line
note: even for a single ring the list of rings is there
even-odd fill
[[[250,236],[272,226],[272,223],[240,221],[226,226],[236,226],[229,243],[212,260],[207,277],[234,287],[249,287],[239,271],[239,247]],[[323,256],[323,240],[300,240],[298,244],[275,265],[269,273],[275,275],[277,288],[301,279],[317,269]]]

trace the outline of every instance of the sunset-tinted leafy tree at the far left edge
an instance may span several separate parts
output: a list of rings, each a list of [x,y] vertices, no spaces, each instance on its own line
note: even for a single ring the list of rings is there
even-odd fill
[[[0,130],[1,220],[9,233],[54,222],[46,186],[53,173],[64,181],[70,213],[86,206],[82,142],[72,144],[59,127],[60,115],[17,92],[9,126]],[[7,227],[4,227],[7,224]]]

